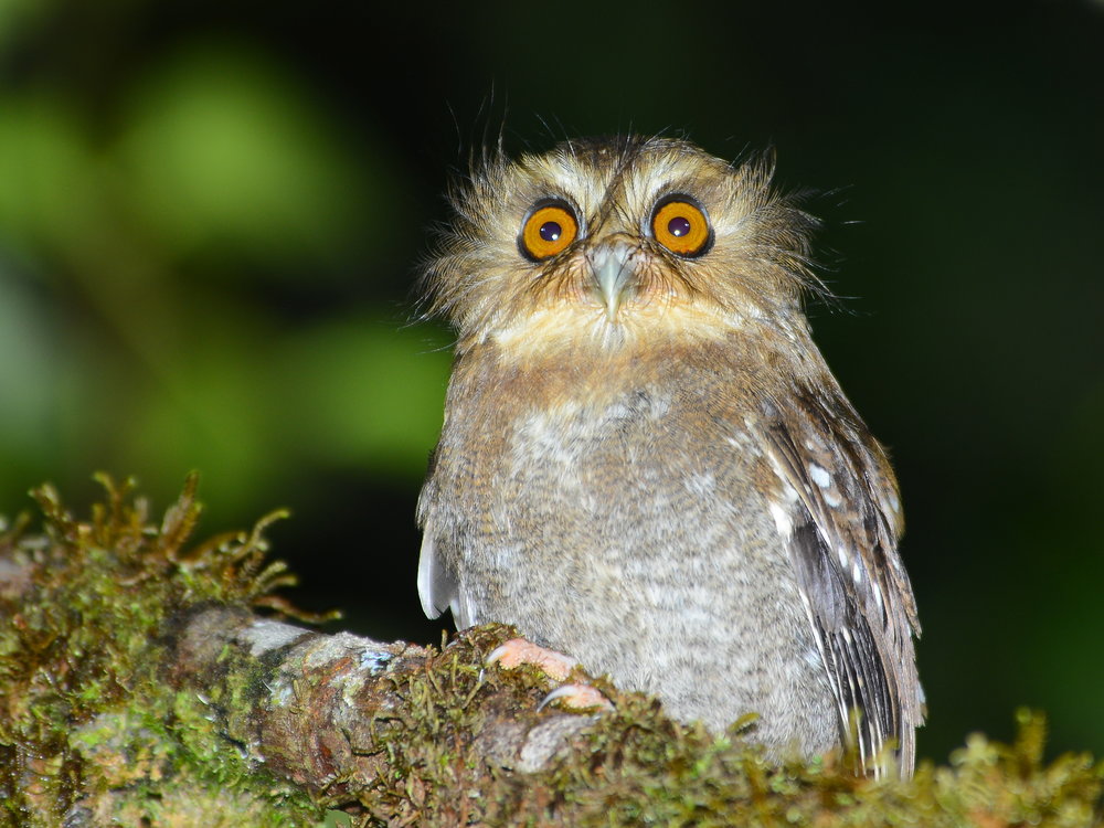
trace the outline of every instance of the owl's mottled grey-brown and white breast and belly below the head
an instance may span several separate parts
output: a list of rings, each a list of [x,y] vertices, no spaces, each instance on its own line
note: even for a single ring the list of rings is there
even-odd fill
[[[513,624],[624,689],[658,694],[676,718],[721,730],[756,712],[766,744],[836,744],[825,668],[772,517],[777,481],[739,427],[752,413],[725,372],[675,354],[635,372],[474,362],[454,371],[423,495],[464,620]]]

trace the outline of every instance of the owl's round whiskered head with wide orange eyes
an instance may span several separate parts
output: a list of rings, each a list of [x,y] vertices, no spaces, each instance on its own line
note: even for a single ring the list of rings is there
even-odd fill
[[[450,192],[428,307],[454,323],[461,350],[784,322],[800,316],[803,289],[820,287],[808,266],[816,222],[772,190],[772,172],[667,138],[495,153]]]

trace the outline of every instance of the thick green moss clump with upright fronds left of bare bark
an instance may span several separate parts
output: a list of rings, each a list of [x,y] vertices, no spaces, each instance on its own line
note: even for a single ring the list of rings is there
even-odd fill
[[[49,486],[35,499],[44,534],[25,521],[0,554],[30,574],[0,595],[0,817],[56,826],[84,813],[121,825],[305,825],[321,809],[258,778],[215,730],[210,701],[158,675],[160,643],[188,607],[276,605],[290,583],[265,564],[264,527],[185,549],[199,517],[197,479],[161,524],[128,481],[100,477],[107,498],[75,520]],[[274,808],[277,804],[279,807]],[[238,821],[234,815],[248,814]],[[230,820],[230,821],[226,821]]]

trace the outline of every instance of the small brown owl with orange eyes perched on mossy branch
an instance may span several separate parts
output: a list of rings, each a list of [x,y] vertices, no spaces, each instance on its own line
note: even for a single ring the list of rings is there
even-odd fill
[[[458,338],[418,503],[431,617],[516,625],[774,756],[913,767],[923,693],[885,452],[802,310],[815,221],[662,138],[491,153],[429,308]]]

